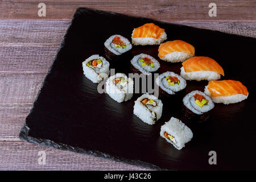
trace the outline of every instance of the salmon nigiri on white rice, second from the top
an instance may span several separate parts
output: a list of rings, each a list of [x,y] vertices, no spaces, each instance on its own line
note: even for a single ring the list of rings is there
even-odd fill
[[[158,57],[171,63],[183,62],[193,56],[195,48],[182,40],[168,41],[160,44],[158,48]]]

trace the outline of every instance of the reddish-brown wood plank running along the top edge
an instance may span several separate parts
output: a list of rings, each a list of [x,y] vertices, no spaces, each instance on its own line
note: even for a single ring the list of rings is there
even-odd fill
[[[70,20],[77,7],[113,11],[133,16],[153,18],[165,22],[195,21],[255,21],[256,1],[216,0],[217,16],[210,17],[209,1],[137,1],[137,0],[45,0],[46,17],[38,16],[39,1],[2,1],[0,4],[1,19],[62,19]]]

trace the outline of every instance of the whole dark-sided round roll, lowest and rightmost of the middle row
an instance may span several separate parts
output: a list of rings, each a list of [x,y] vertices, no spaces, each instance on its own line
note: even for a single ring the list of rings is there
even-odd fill
[[[214,107],[211,98],[199,90],[188,93],[183,98],[183,105],[185,116],[198,122],[206,121],[209,118],[209,111]]]

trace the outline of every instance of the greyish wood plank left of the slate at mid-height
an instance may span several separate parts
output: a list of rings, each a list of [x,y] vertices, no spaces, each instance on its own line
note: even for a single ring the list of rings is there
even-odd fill
[[[45,75],[0,75],[0,105],[32,105]]]

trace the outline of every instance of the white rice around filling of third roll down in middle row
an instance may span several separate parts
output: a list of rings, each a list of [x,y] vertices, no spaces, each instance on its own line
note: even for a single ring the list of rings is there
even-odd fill
[[[180,84],[168,85],[168,81],[165,78],[167,76],[176,76],[180,80]],[[156,84],[160,86],[160,88],[162,88],[168,94],[175,94],[175,92],[179,92],[180,90],[183,90],[187,86],[187,82],[184,80],[184,78],[177,75],[174,72],[165,72],[160,74],[156,78]]]

